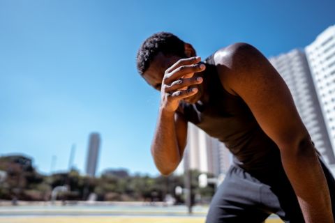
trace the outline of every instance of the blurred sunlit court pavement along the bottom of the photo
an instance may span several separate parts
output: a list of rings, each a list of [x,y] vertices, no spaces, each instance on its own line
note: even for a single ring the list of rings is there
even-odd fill
[[[208,206],[72,205],[0,206],[0,223],[200,223]],[[282,223],[271,216],[266,223]]]

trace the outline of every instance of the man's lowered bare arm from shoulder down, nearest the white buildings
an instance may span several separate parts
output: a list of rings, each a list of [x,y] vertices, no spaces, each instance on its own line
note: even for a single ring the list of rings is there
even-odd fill
[[[276,69],[246,43],[222,49],[214,60],[225,89],[246,102],[262,130],[280,149],[305,221],[334,222],[325,174],[288,86]]]

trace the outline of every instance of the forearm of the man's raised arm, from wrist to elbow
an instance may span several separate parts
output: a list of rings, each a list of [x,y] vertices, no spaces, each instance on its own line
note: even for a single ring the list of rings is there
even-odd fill
[[[174,112],[159,110],[151,154],[161,174],[168,175],[177,168],[181,155],[175,130]]]

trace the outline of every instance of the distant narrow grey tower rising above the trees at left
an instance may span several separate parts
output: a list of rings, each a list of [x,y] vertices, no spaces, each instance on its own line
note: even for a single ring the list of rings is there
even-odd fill
[[[86,163],[86,174],[88,176],[96,176],[96,166],[98,164],[100,142],[101,139],[98,133],[91,133],[89,135],[89,148]]]

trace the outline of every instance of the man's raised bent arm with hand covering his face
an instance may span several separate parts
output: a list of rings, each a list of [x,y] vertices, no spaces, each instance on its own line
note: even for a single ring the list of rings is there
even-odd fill
[[[187,121],[176,111],[179,101],[197,93],[198,89],[188,86],[200,84],[202,79],[193,77],[194,72],[204,70],[197,64],[200,57],[180,59],[165,71],[161,85],[161,105],[151,154],[157,169],[163,175],[171,174],[178,167],[186,146]]]

